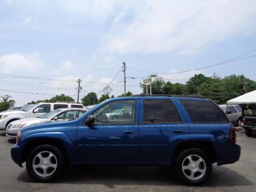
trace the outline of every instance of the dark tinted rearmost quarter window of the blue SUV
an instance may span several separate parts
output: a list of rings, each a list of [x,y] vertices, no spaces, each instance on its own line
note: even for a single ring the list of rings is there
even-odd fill
[[[223,111],[212,101],[180,100],[193,123],[228,123]]]

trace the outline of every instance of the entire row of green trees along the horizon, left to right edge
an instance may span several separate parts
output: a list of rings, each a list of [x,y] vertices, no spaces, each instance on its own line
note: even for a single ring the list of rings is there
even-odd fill
[[[152,94],[170,94],[170,95],[202,95],[206,98],[214,100],[216,103],[226,103],[227,100],[243,95],[247,92],[256,90],[256,81],[246,78],[244,75],[229,75],[224,78],[214,74],[211,77],[206,77],[203,74],[194,75],[186,83],[172,83],[170,81],[164,81],[157,75],[151,75],[157,77],[157,81],[152,84]],[[146,94],[145,86],[141,84],[142,93]],[[84,106],[98,104],[106,99],[110,98],[112,89],[110,86],[106,86],[103,89],[104,94],[97,98],[95,92],[88,93],[81,101]],[[133,95],[132,92],[127,92],[126,96]],[[124,94],[118,97],[124,97]],[[2,98],[2,99],[1,99]],[[74,102],[74,99],[69,96],[56,95],[51,99],[37,100],[28,102],[28,104],[34,104],[38,102]],[[0,96],[0,112],[9,109],[15,104],[15,100],[11,96]]]

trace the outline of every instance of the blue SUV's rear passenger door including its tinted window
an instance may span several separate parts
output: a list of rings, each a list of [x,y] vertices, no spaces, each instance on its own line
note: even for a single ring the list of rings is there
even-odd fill
[[[189,140],[188,126],[173,99],[140,99],[139,162],[170,163],[177,141]]]

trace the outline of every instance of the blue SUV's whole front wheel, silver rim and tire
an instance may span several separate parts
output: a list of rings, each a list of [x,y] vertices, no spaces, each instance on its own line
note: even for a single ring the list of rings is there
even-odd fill
[[[26,167],[28,174],[35,180],[50,182],[58,178],[65,166],[65,158],[57,147],[44,144],[30,153]]]

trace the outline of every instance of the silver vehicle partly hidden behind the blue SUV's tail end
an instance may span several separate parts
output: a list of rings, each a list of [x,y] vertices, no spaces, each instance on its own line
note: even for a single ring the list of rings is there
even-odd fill
[[[220,104],[219,106],[233,125],[242,126],[242,108],[239,104]]]

